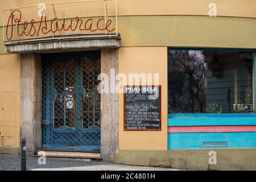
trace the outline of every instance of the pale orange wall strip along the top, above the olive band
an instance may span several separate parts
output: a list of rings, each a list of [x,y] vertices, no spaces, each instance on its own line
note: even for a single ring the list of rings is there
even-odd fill
[[[15,7],[38,5],[39,3],[72,2],[73,0],[9,0],[1,1],[0,11]],[[117,0],[118,16],[131,15],[207,15],[209,3],[216,3],[218,16],[256,18],[255,0]],[[72,5],[64,6],[69,9]],[[78,9],[83,13],[82,9]],[[77,12],[76,12],[77,13]],[[73,12],[65,12],[65,16]],[[2,14],[1,14],[2,16]],[[1,17],[0,16],[0,17]],[[60,18],[60,17],[58,17]],[[66,17],[67,18],[67,17]],[[0,18],[2,26],[2,18]]]

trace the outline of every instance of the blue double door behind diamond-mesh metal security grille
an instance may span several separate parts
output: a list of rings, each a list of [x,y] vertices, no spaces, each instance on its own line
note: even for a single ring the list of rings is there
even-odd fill
[[[43,57],[43,148],[100,150],[100,52]]]

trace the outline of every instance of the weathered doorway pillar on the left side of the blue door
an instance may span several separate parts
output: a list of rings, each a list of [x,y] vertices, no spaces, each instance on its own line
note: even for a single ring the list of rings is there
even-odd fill
[[[27,155],[31,156],[42,146],[41,56],[26,53],[20,56],[20,61],[20,133],[27,141]]]

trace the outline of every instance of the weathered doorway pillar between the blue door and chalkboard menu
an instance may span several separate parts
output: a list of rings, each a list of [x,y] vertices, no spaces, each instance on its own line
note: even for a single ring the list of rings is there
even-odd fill
[[[118,49],[101,50],[101,73],[110,78],[110,69],[118,74]],[[109,79],[110,81],[110,79]],[[115,85],[117,85],[115,81]],[[115,85],[109,85],[109,89]],[[114,154],[118,152],[118,93],[101,94],[101,156],[108,162],[114,161]]]

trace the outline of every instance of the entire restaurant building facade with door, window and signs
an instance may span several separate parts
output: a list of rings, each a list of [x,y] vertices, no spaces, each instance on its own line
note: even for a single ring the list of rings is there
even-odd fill
[[[31,156],[97,151],[139,166],[255,169],[255,7],[253,0],[2,2],[0,152],[19,154],[26,138]],[[147,86],[158,99],[144,115],[127,104],[142,102],[117,92]],[[209,151],[217,165],[209,167]]]

